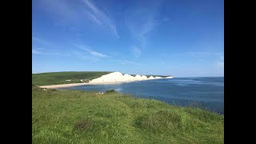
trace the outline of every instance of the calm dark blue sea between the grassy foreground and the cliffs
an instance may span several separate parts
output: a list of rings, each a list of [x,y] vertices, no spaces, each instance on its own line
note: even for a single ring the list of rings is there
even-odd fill
[[[73,86],[69,90],[116,90],[178,106],[199,106],[224,114],[224,78],[172,78],[111,85]]]

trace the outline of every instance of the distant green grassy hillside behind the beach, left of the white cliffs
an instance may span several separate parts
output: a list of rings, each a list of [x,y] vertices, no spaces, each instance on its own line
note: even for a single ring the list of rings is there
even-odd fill
[[[99,78],[104,74],[110,74],[111,72],[52,72],[52,73],[41,73],[32,74],[32,84],[37,86],[46,85],[58,85],[67,83],[81,83],[81,79],[85,82],[94,78]],[[66,80],[71,80],[66,82]]]

